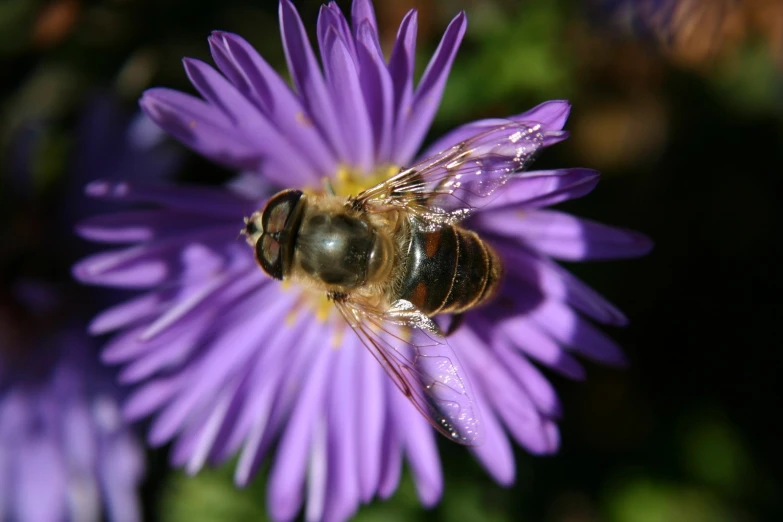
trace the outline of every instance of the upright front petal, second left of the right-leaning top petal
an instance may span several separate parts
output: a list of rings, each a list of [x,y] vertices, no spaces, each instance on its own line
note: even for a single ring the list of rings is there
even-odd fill
[[[367,21],[357,30],[356,50],[359,58],[359,79],[361,81],[367,113],[372,122],[375,138],[375,163],[382,165],[391,161],[391,147],[394,132],[394,85],[383,61],[383,54]]]

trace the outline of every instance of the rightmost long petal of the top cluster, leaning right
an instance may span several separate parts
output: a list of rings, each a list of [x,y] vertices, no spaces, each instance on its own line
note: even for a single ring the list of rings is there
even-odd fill
[[[402,120],[397,122],[394,155],[398,165],[409,164],[421,146],[440,105],[451,64],[457,55],[466,28],[467,17],[464,12],[461,12],[446,28],[435,54],[421,77],[410,107],[402,108],[405,113]]]

